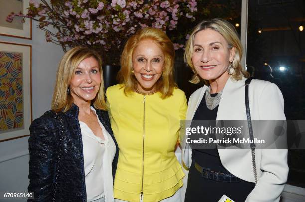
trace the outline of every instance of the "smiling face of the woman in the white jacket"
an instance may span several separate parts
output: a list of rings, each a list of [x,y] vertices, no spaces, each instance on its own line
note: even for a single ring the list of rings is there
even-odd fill
[[[210,82],[228,78],[229,62],[234,59],[235,48],[228,48],[223,36],[212,29],[199,31],[194,38],[192,63],[198,75]]]

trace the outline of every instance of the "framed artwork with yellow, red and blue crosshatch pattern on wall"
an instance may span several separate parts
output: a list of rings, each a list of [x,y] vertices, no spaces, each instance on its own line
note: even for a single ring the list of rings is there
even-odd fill
[[[0,142],[29,135],[31,45],[0,41]]]

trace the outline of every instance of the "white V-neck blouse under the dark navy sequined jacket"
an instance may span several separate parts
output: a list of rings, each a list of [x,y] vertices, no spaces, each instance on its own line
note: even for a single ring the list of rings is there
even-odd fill
[[[91,109],[96,115],[95,109],[93,107]],[[116,145],[97,115],[96,117],[102,128],[105,140],[95,136],[87,124],[79,121],[83,140],[87,201],[90,202],[105,197],[106,202],[113,202],[111,164],[116,153]],[[104,201],[103,199],[101,200]]]

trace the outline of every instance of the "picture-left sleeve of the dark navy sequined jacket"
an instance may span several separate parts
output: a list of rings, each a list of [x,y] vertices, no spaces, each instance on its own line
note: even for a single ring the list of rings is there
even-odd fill
[[[29,143],[29,186],[28,191],[34,192],[34,200],[30,202],[51,201],[54,194],[55,178],[55,141],[52,124],[42,118],[34,120],[30,126]]]

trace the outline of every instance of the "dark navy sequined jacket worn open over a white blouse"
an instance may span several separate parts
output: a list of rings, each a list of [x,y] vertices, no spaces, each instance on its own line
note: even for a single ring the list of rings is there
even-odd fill
[[[72,104],[64,113],[47,111],[30,126],[29,192],[35,202],[86,202],[84,155],[79,109]],[[117,151],[112,163],[113,179],[118,162],[118,144],[108,112],[96,110],[101,123],[113,138]]]

